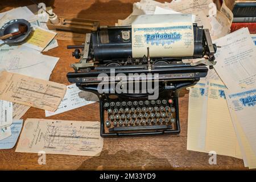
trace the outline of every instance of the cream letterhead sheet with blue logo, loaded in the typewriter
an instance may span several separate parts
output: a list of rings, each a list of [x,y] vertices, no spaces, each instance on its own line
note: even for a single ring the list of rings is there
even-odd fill
[[[192,56],[194,36],[191,14],[140,15],[132,24],[133,57]]]

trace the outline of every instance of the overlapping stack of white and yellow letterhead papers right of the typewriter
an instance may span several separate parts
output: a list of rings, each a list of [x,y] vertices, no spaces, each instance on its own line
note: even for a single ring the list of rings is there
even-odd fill
[[[247,28],[214,41],[217,64],[189,90],[187,149],[256,168],[256,48]]]

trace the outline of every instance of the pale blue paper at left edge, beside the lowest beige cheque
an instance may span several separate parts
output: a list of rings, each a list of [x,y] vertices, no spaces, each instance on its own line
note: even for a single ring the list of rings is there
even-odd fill
[[[0,140],[0,149],[13,148],[18,140],[20,130],[22,129],[23,119],[14,120],[11,128],[11,136]]]

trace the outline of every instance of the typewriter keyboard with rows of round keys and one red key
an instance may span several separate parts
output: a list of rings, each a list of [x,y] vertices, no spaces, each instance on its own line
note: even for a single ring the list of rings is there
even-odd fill
[[[173,100],[105,102],[105,127],[112,131],[172,129],[176,122]]]

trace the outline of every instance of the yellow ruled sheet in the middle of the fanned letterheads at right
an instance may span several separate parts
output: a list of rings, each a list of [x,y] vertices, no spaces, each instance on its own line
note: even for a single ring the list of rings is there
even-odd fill
[[[237,139],[226,104],[225,85],[209,81],[205,150],[237,158]]]

